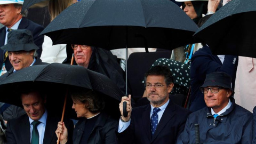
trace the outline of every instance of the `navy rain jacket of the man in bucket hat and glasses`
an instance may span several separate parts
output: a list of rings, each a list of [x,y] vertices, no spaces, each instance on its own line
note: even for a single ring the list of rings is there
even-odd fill
[[[195,143],[195,124],[199,124],[200,143],[252,143],[252,113],[230,100],[231,107],[216,119],[208,107],[190,114],[177,144]]]

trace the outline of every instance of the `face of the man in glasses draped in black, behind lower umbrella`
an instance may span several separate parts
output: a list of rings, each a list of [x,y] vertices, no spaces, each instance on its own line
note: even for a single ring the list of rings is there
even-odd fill
[[[87,45],[78,45],[76,49],[74,49],[74,55],[78,66],[88,68],[92,55],[92,48]]]

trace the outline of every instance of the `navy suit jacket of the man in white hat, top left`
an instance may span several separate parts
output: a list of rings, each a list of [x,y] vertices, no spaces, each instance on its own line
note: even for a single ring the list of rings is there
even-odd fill
[[[30,21],[26,18],[22,18],[18,29],[28,29],[31,31],[31,33],[33,34],[34,43],[39,47],[39,49],[37,50],[37,53],[38,53],[38,57],[40,58],[41,53],[42,53],[42,44],[44,42],[44,35],[39,36],[39,34],[44,30],[44,27],[42,27],[41,25],[38,25],[37,23]],[[6,35],[5,27],[2,27],[0,29],[0,47],[2,47],[4,45],[5,35]],[[1,66],[1,68],[3,65],[3,60],[4,60],[4,51],[2,49],[0,49],[0,66]],[[7,58],[5,61],[5,68],[7,71],[9,71],[11,69],[11,67],[12,67],[12,65],[9,61],[9,58]]]

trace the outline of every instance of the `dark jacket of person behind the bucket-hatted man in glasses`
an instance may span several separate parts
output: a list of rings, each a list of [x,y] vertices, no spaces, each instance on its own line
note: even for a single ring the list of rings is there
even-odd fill
[[[190,76],[191,76],[191,95],[189,110],[196,111],[206,107],[204,94],[199,87],[204,83],[206,74],[214,71],[223,71],[232,77],[232,87],[234,89],[236,79],[236,68],[238,57],[234,55],[225,55],[223,64],[217,55],[213,55],[208,46],[196,51],[191,58]]]

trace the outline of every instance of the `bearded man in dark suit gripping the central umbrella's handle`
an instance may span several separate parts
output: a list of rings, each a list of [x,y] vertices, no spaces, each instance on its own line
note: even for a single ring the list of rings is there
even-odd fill
[[[172,73],[164,66],[152,67],[145,74],[146,96],[150,105],[131,107],[131,95],[119,104],[121,118],[116,132],[119,143],[175,143],[184,130],[190,111],[169,99],[174,84]],[[123,102],[127,102],[127,117]],[[155,110],[157,109],[157,110]],[[158,111],[158,112],[157,112]]]

